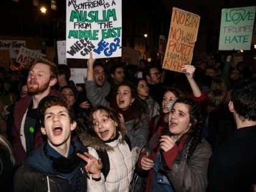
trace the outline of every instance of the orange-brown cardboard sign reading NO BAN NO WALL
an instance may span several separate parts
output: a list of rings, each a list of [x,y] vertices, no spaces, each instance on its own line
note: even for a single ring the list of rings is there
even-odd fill
[[[199,23],[199,15],[176,7],[172,8],[163,69],[180,72],[182,65],[191,63]]]

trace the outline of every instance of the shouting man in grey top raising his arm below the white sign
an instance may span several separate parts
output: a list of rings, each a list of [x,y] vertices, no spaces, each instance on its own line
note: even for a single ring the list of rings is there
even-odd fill
[[[85,80],[85,90],[87,98],[93,105],[107,106],[112,99],[110,84],[107,82],[107,73],[101,63],[94,63],[93,55],[90,52],[90,59],[87,62],[87,79]]]

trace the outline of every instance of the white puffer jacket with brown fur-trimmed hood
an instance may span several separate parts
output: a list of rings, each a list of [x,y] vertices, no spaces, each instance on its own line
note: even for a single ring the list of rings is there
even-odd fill
[[[110,163],[110,170],[106,178],[101,173],[101,180],[99,181],[93,180],[91,176],[87,179],[87,191],[129,191],[129,184],[137,159],[136,148],[130,150],[126,141],[121,143],[121,134],[108,143],[104,143],[98,136],[94,137],[88,132],[80,134],[79,137],[82,143],[87,146],[89,153],[95,158],[99,158],[96,150],[107,151]]]

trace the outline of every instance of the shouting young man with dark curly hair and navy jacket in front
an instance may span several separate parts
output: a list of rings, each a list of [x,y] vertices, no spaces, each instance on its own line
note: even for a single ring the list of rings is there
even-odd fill
[[[57,96],[46,96],[38,104],[38,115],[47,141],[16,171],[14,191],[87,191],[85,163],[77,156],[87,150],[71,140],[76,129],[71,108]]]

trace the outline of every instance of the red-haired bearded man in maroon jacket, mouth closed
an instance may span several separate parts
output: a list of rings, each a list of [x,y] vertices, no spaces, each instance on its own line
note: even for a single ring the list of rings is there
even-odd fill
[[[62,93],[52,87],[57,82],[57,66],[47,59],[36,59],[28,66],[28,93],[14,108],[14,125],[12,130],[13,147],[18,165],[43,143],[40,123],[37,117],[38,103],[48,94],[65,99]]]

